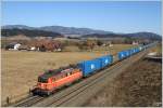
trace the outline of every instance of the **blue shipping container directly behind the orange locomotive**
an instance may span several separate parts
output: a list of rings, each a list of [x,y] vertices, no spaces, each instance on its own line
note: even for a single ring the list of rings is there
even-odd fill
[[[82,69],[83,76],[86,77],[92,72],[96,72],[96,70],[101,69],[101,62],[99,59],[85,60],[78,63],[78,67]]]

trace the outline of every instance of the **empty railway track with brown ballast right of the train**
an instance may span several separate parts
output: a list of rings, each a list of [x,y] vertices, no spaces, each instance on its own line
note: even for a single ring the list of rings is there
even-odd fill
[[[139,55],[139,56],[137,56]],[[97,72],[95,76],[91,76],[89,78],[84,79],[79,83],[75,83],[73,86],[66,87],[64,91],[61,91],[59,93],[55,93],[54,95],[51,95],[47,98],[40,97],[40,96],[33,96],[27,98],[26,100],[23,100],[16,105],[15,107],[59,107],[59,106],[78,106],[82,105],[77,103],[75,104],[75,98],[78,99],[78,96],[83,94],[84,92],[87,92],[87,90],[90,90],[91,87],[97,85],[97,83],[102,82],[103,79],[106,79],[108,77],[114,75],[116,76],[116,70],[121,70],[122,68],[126,68],[134,62],[136,62],[138,58],[140,58],[145,55],[145,52],[140,52],[140,54],[136,54],[130,56],[127,59],[124,59],[123,62],[115,62],[114,65],[112,65],[110,68],[102,70],[101,72]],[[130,63],[129,63],[130,62]],[[121,71],[120,71],[121,72]],[[74,102],[74,103],[72,103]],[[72,103],[72,104],[71,104]]]

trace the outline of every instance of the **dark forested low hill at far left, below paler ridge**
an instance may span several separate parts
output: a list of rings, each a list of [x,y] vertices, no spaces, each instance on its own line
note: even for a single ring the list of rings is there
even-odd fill
[[[58,37],[64,37],[61,33],[58,32],[51,32],[51,31],[43,31],[43,30],[37,30],[37,29],[17,29],[17,28],[13,28],[13,29],[1,29],[1,36],[2,37],[12,37],[12,36],[26,36],[26,37],[52,37],[52,38],[58,38]]]

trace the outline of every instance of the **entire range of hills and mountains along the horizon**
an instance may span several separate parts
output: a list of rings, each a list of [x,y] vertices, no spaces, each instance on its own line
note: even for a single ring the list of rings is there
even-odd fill
[[[2,26],[2,35],[17,35],[23,32],[29,37],[43,35],[46,37],[55,37],[64,35],[65,37],[82,37],[82,38],[139,38],[139,39],[154,39],[161,40],[161,36],[153,32],[135,32],[135,33],[115,33],[112,31],[95,30],[90,28],[76,28],[63,26],[43,26],[43,27],[28,27],[25,25],[7,25]],[[7,31],[9,32],[7,35]]]

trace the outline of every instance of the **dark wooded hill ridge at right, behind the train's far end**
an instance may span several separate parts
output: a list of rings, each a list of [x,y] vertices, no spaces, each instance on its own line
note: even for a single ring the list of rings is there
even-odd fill
[[[136,39],[150,39],[150,40],[161,40],[160,35],[153,32],[135,32],[135,33],[108,33],[108,35],[84,35],[82,38],[136,38]]]

